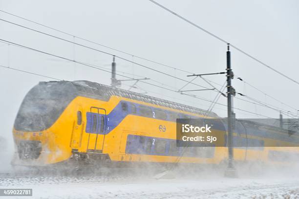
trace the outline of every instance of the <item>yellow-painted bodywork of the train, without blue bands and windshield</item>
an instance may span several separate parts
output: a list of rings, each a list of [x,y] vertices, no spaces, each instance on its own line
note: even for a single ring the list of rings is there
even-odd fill
[[[142,136],[144,138],[159,138],[167,140],[176,140],[176,123],[166,119],[157,119],[154,116],[144,117],[137,114],[128,113],[119,123],[109,129],[109,122],[113,122],[114,118],[109,118],[113,114],[113,110],[120,106],[121,102],[127,104],[142,105],[151,107],[151,110],[165,110],[171,113],[184,114],[194,118],[204,117],[184,110],[179,110],[163,105],[157,105],[142,100],[133,100],[130,98],[110,95],[108,100],[94,99],[88,96],[76,96],[72,99],[57,117],[57,119],[48,128],[39,131],[26,131],[13,129],[15,143],[18,153],[20,144],[25,141],[38,141],[41,150],[35,158],[24,158],[16,155],[15,164],[22,165],[49,165],[63,162],[70,159],[74,152],[79,154],[107,155],[111,161],[124,162],[164,162],[164,163],[208,163],[219,164],[228,158],[227,147],[210,147],[213,148],[211,157],[196,157],[178,155],[157,155],[150,153],[130,153],[128,151],[128,136]],[[122,108],[122,107],[121,107]],[[122,111],[122,109],[120,109]],[[79,115],[78,115],[79,114]],[[106,118],[101,125],[107,134],[88,133],[86,125],[91,125],[88,121],[88,114],[99,114]],[[114,113],[118,117],[121,113]],[[103,123],[104,122],[104,123]],[[89,124],[88,124],[89,123]],[[98,124],[96,124],[98,125]],[[99,124],[100,125],[100,124]],[[161,126],[163,127],[161,131]],[[92,126],[90,126],[91,128]],[[102,128],[101,126],[95,128]],[[112,128],[112,127],[111,127]],[[225,134],[225,132],[223,132]],[[235,133],[235,136],[238,136]],[[244,137],[244,136],[243,136]],[[248,136],[255,138],[255,136]],[[141,140],[141,139],[140,139]],[[272,139],[264,139],[274,141]],[[36,146],[35,146],[36,147]],[[167,146],[170,150],[171,146]],[[24,148],[23,148],[24,149]],[[34,150],[34,149],[30,149]],[[164,149],[165,150],[165,149]],[[210,149],[208,149],[210,150]],[[263,147],[262,150],[252,150],[245,148],[234,148],[234,159],[236,161],[258,160],[269,162],[269,151],[299,152],[298,147]]]

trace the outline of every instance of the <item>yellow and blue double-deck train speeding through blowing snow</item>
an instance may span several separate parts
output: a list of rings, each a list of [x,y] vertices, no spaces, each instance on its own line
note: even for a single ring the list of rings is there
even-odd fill
[[[176,119],[204,116],[218,118],[213,112],[95,82],[40,82],[28,92],[17,114],[12,164],[43,166],[74,158],[219,164],[228,158],[226,147],[176,146]],[[297,147],[264,145],[278,139],[299,143],[298,135],[290,137],[282,129],[250,121],[237,122],[235,129],[235,141],[260,143],[235,147],[236,161],[299,157]]]

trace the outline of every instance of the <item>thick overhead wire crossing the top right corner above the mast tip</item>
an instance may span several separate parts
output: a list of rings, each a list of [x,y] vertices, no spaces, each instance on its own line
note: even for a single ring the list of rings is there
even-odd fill
[[[275,68],[269,66],[268,64],[262,62],[261,60],[258,60],[257,58],[255,58],[254,56],[250,55],[249,53],[246,53],[244,50],[241,50],[240,48],[238,48],[237,46],[235,46],[235,45],[232,44],[231,42],[229,42],[229,41],[227,41],[227,40],[224,40],[224,39],[222,39],[222,38],[216,36],[215,34],[211,33],[210,31],[208,31],[208,30],[202,28],[201,26],[199,26],[199,25],[193,23],[193,22],[190,21],[190,20],[187,20],[186,18],[184,18],[184,17],[182,17],[181,15],[179,15],[179,14],[173,12],[172,10],[170,10],[169,8],[167,8],[167,7],[163,6],[163,5],[161,5],[160,3],[158,3],[158,2],[156,2],[156,1],[154,1],[154,0],[149,0],[149,1],[152,2],[152,3],[154,3],[154,4],[156,4],[156,5],[158,5],[159,7],[163,8],[164,10],[170,12],[170,13],[173,14],[174,16],[176,16],[176,17],[178,17],[178,18],[180,18],[180,19],[182,19],[182,20],[184,20],[184,21],[190,23],[191,25],[193,25],[193,26],[195,26],[196,28],[202,30],[203,32],[205,32],[205,33],[211,35],[212,37],[216,38],[217,40],[220,40],[220,41],[222,41],[222,42],[224,42],[224,43],[226,43],[226,44],[229,43],[230,46],[233,47],[233,48],[235,48],[237,51],[241,52],[242,54],[246,55],[247,57],[249,57],[249,58],[251,58],[251,59],[257,61],[258,63],[262,64],[263,66],[265,66],[265,67],[267,67],[267,68],[273,70],[274,72],[278,73],[279,75],[281,75],[281,76],[287,78],[288,80],[291,80],[291,81],[293,81],[293,82],[295,82],[296,84],[299,85],[299,82],[298,82],[297,80],[294,80],[294,79],[288,77],[287,75],[284,75],[283,73],[279,72],[277,69],[275,69]]]

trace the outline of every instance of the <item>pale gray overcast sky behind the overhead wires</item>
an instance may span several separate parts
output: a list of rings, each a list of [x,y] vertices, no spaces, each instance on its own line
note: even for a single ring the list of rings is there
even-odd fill
[[[299,80],[299,1],[297,0],[158,0],[174,12],[197,23],[215,35],[230,41],[239,48],[264,61],[273,68]],[[194,73],[224,71],[226,45],[206,33],[176,18],[148,0],[0,0],[0,9],[63,30],[73,35],[93,40],[131,54],[156,60]],[[74,39],[70,36],[0,13],[0,19],[10,20],[49,34],[75,40],[91,47],[123,56],[176,77],[187,78],[185,73],[124,55],[104,47]],[[0,21],[0,39],[10,40],[70,59],[106,67],[110,70],[111,56],[43,36]],[[0,43],[0,65],[27,70],[64,80],[91,80],[110,83],[110,74],[42,55],[19,47]],[[161,81],[177,89],[184,82],[174,80],[140,66],[117,61],[117,70]],[[232,67],[235,76],[255,85],[269,95],[295,108],[298,106],[299,85],[291,82],[232,49]],[[137,76],[136,76],[137,77]],[[119,79],[124,79],[118,77]],[[224,75],[209,77],[223,84]],[[0,68],[4,136],[11,135],[13,121],[28,90],[39,81],[50,79]],[[150,83],[155,83],[149,80]],[[209,86],[202,80],[195,81]],[[126,82],[132,84],[133,82]],[[237,92],[251,96],[280,108],[289,107],[234,80]],[[209,102],[175,94],[164,89],[138,83],[148,95],[207,109]],[[161,85],[161,84],[159,84]],[[167,87],[167,86],[165,86]],[[128,89],[127,85],[122,88]],[[194,85],[186,89],[198,89]],[[133,89],[136,92],[142,90]],[[154,93],[152,93],[154,92]],[[213,100],[215,93],[192,93]],[[221,97],[219,102],[226,103]],[[235,107],[278,118],[278,112],[235,100]],[[226,116],[226,107],[216,105],[219,116]],[[235,111],[238,118],[256,118]]]

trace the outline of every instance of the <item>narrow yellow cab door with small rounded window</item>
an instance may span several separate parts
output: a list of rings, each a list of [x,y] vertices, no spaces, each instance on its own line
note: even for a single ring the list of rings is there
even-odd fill
[[[71,135],[71,148],[81,147],[82,135],[84,130],[84,121],[82,120],[82,107],[78,106],[76,110],[76,117],[74,119]]]

